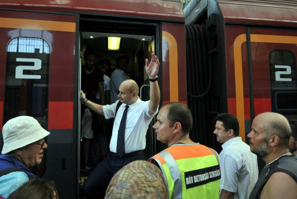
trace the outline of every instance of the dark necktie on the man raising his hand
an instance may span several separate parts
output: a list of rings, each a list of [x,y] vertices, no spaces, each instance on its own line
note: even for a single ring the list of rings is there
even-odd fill
[[[126,127],[126,118],[127,118],[127,111],[129,106],[126,105],[124,110],[122,120],[120,123],[120,127],[118,130],[118,142],[117,142],[117,154],[122,157],[125,154],[125,127]]]

